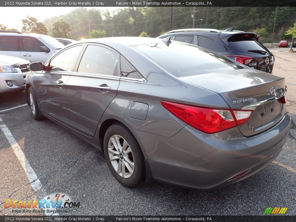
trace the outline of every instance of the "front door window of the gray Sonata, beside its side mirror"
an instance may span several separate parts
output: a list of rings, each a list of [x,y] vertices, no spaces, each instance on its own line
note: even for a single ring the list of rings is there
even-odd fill
[[[51,71],[72,71],[74,68],[78,56],[82,50],[82,45],[71,47],[65,51],[62,51],[60,54],[55,56],[50,61],[50,70]]]

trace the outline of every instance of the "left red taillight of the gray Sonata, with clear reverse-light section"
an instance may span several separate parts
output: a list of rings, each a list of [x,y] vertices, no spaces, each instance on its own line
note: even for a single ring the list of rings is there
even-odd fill
[[[197,130],[217,133],[248,121],[252,111],[213,109],[161,101],[170,113]]]

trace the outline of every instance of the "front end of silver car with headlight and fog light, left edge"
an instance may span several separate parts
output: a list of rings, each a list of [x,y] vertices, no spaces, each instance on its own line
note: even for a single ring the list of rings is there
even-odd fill
[[[28,60],[0,55],[0,93],[23,91],[29,64]]]

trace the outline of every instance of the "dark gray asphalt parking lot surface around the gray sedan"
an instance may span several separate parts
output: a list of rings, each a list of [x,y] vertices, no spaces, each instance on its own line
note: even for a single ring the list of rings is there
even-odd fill
[[[10,109],[26,103],[24,92],[0,95],[0,215],[22,215],[4,208],[6,198],[38,200],[57,192],[81,203],[65,215],[263,215],[267,207],[287,207],[286,215],[296,215],[296,53],[271,51],[273,74],[286,77],[288,86],[288,140],[264,170],[212,191],[161,183],[123,187],[100,151],[52,121],[34,121],[27,106]],[[38,178],[30,181],[22,163]]]

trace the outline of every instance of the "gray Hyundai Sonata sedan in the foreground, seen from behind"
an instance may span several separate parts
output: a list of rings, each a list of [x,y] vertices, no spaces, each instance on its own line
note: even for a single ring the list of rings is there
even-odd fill
[[[100,149],[126,187],[236,183],[268,166],[290,129],[284,78],[169,38],[87,39],[30,68],[33,118]]]

